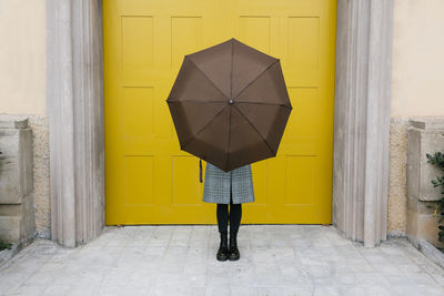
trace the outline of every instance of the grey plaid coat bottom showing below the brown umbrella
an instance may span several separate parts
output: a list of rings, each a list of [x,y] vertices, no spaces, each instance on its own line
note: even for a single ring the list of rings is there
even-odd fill
[[[206,163],[202,201],[205,203],[233,204],[254,202],[253,175],[251,164],[224,172]]]

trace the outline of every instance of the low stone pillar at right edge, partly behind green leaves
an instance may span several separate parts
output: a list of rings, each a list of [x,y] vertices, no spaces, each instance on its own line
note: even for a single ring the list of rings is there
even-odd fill
[[[426,153],[444,153],[444,118],[410,120],[407,130],[407,236],[416,247],[422,238],[434,246],[437,241],[437,220],[433,216],[443,188],[433,187],[431,181],[443,172],[427,163]],[[433,206],[428,208],[427,205]],[[437,213],[440,214],[440,213]]]

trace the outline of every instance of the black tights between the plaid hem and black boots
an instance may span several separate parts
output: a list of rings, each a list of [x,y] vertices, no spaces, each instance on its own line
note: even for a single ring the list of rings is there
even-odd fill
[[[238,233],[242,218],[242,204],[233,204],[232,191],[230,188],[230,214],[228,204],[218,204],[218,227],[220,233],[228,233],[230,220],[230,234]]]

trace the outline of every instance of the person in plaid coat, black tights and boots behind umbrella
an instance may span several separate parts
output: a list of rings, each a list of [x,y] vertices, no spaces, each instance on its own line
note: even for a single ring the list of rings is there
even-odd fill
[[[254,202],[251,164],[224,172],[208,162],[202,201],[216,204],[218,229],[221,237],[216,259],[238,261],[240,258],[238,232],[242,218],[242,204]]]

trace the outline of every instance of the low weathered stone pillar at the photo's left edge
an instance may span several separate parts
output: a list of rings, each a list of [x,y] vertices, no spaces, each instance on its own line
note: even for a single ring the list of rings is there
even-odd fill
[[[0,115],[0,239],[20,244],[36,235],[28,119]]]

